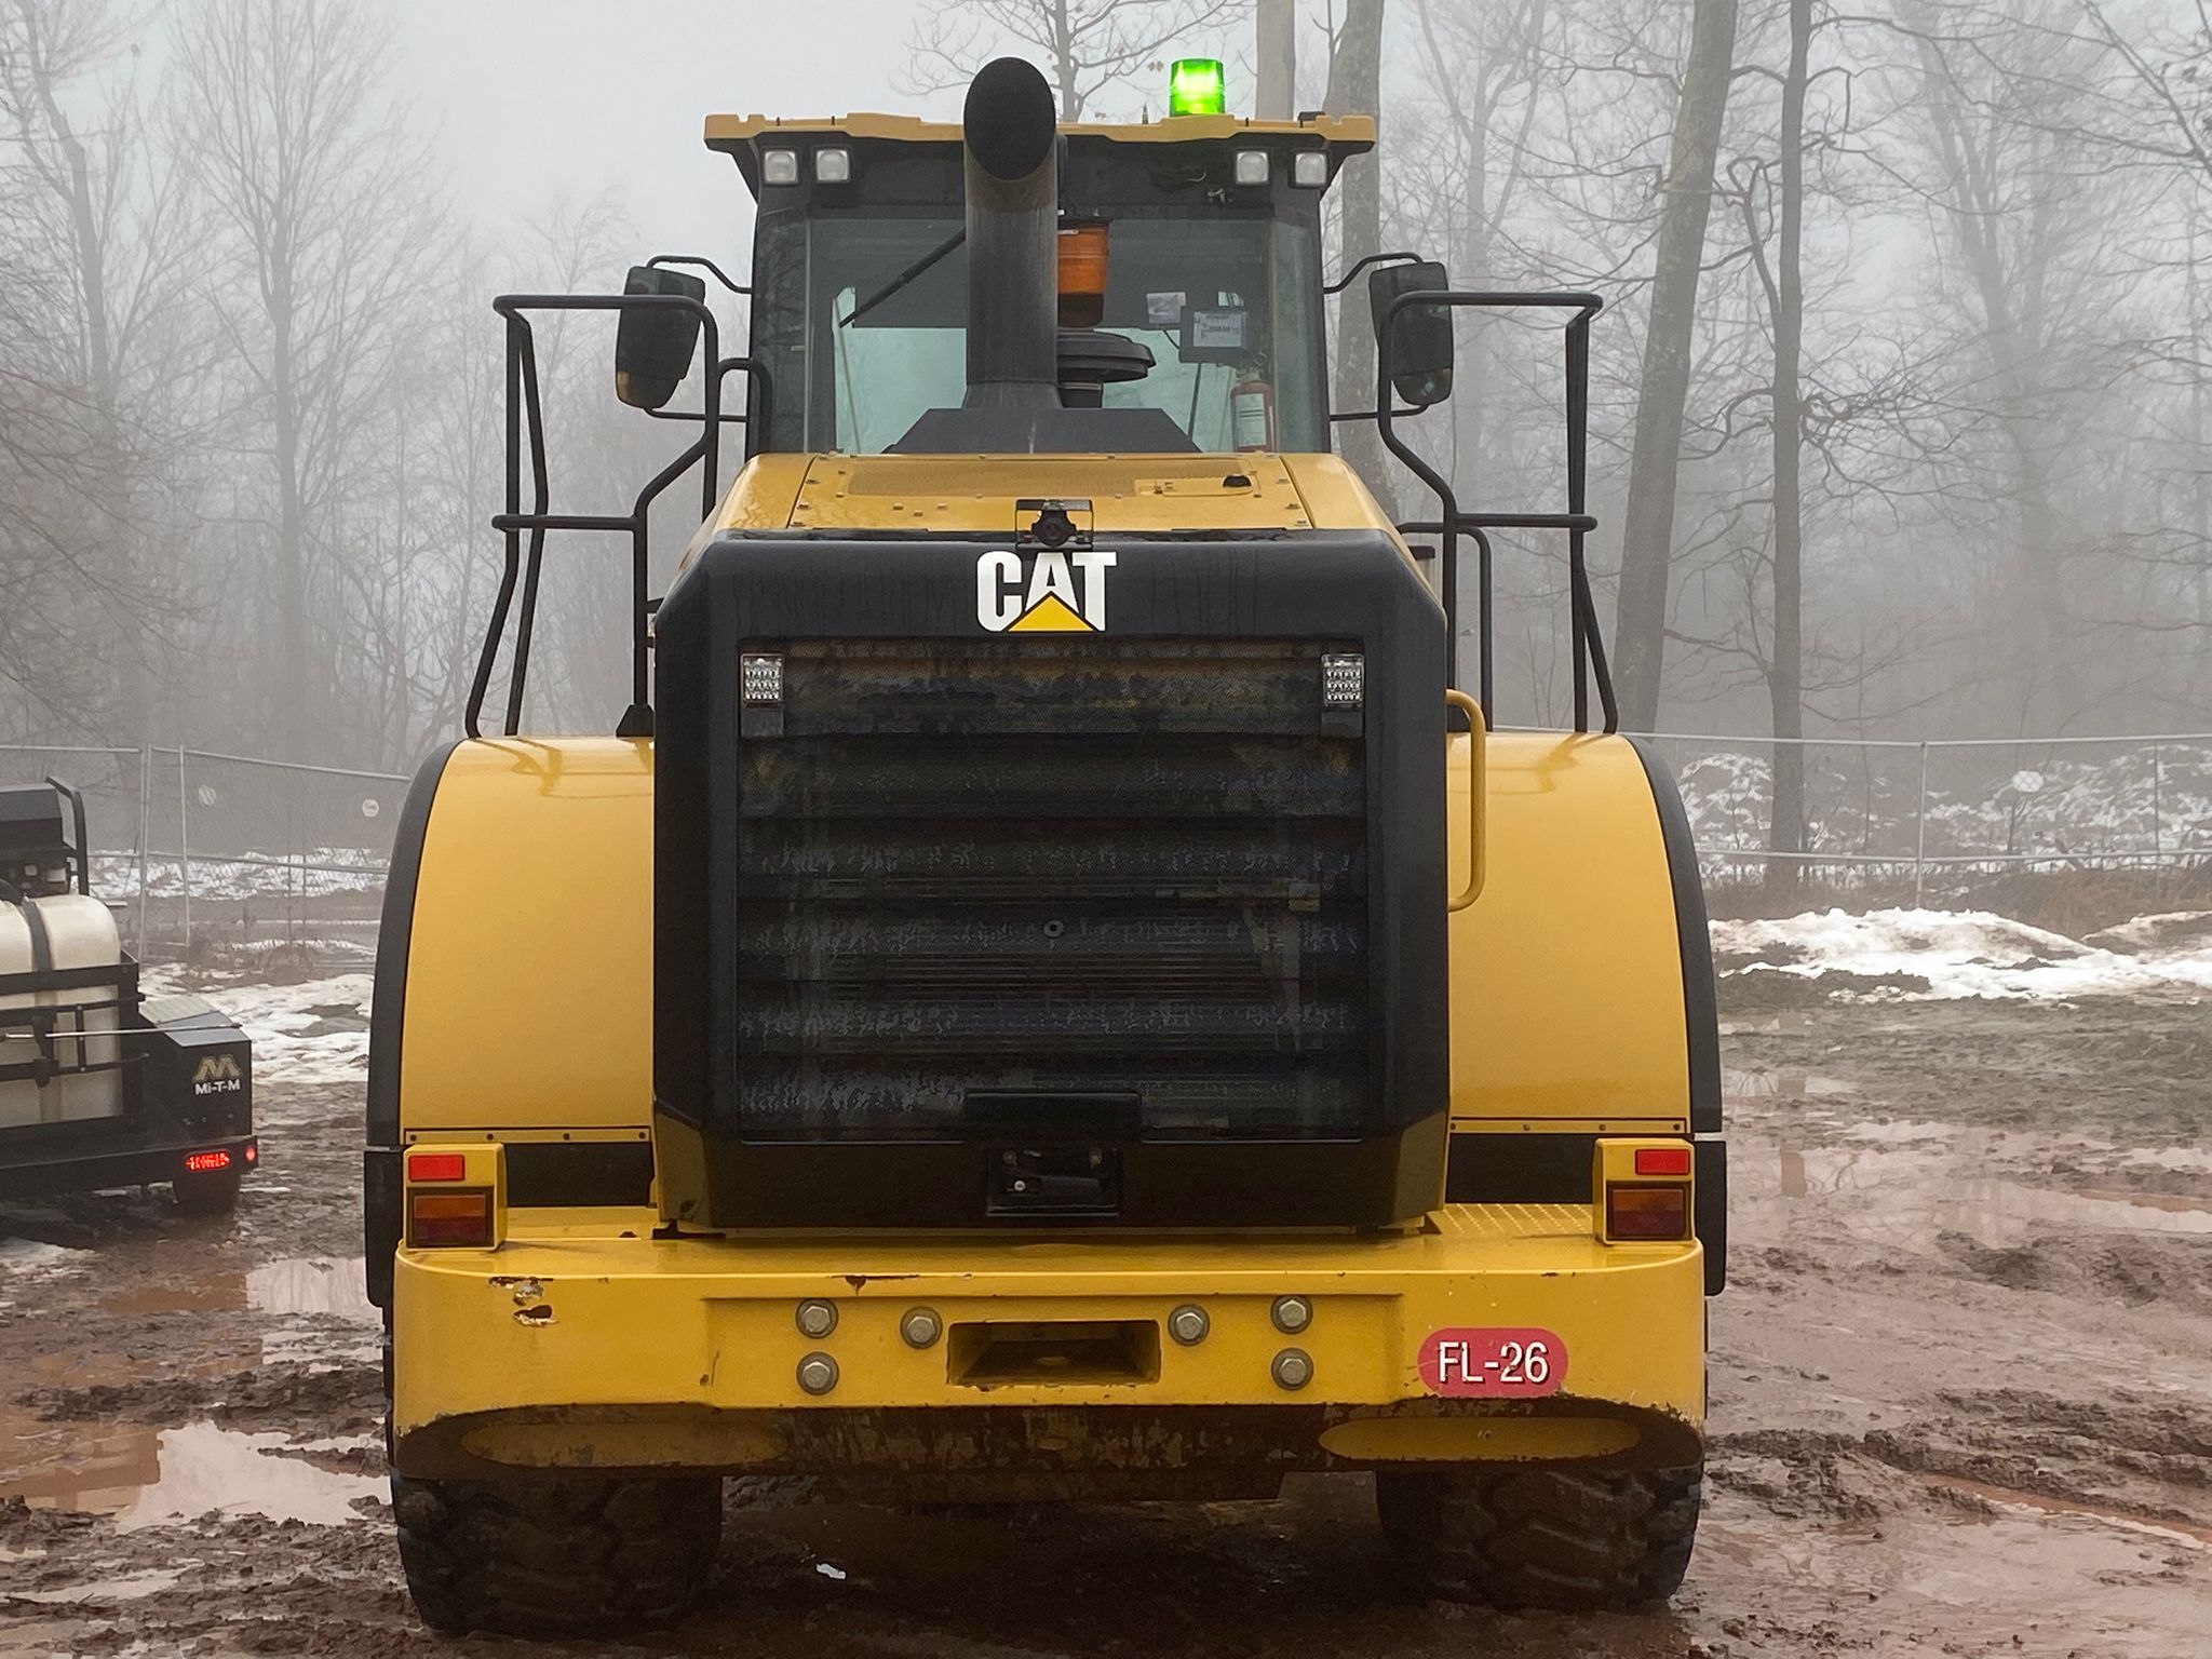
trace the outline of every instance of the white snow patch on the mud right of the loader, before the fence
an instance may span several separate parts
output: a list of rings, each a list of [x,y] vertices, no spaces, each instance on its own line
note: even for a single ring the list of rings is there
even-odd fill
[[[2132,925],[2130,925],[2132,927]],[[2112,929],[2119,933],[2121,929]],[[2139,991],[2212,989],[2212,947],[2192,940],[2177,951],[2121,956],[2097,945],[2013,922],[1989,911],[1843,909],[1783,920],[1714,922],[1721,956],[1787,956],[1752,962],[1741,973],[1916,975],[1927,991],[1885,991],[1898,1000],[2128,995]]]

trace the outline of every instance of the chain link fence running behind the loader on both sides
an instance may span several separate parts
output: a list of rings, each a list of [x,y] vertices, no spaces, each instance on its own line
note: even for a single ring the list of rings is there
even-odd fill
[[[1708,885],[1774,867],[1916,902],[2017,869],[2212,867],[2212,734],[1840,739],[1772,852],[1774,739],[1659,734]],[[365,967],[407,779],[177,748],[0,745],[0,783],[84,790],[93,885],[144,962]]]

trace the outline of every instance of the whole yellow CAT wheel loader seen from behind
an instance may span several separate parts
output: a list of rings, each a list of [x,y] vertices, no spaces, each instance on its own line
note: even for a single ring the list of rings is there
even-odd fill
[[[1717,1026],[1688,823],[1613,734],[1584,568],[1599,303],[1352,261],[1376,407],[1332,409],[1323,197],[1374,126],[1217,88],[1179,64],[1164,119],[1060,126],[1002,60],[958,126],[708,119],[759,204],[743,354],[706,259],[495,303],[507,562],[469,737],[398,830],[367,1104],[434,1626],[681,1615],[723,1475],[1363,1471],[1429,1593],[1681,1582]],[[1564,511],[1462,509],[1405,436],[1455,314],[1500,305],[1564,323]],[[617,312],[617,396],[697,425],[628,515],[553,502],[555,310]],[[1354,418],[1427,520],[1332,453]],[[648,509],[690,471],[655,604]],[[1502,526],[1566,542],[1573,732],[1486,730]],[[630,538],[613,737],[520,730],[555,533]]]

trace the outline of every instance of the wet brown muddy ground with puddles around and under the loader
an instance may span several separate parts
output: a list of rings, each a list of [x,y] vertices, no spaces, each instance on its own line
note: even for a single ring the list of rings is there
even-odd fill
[[[1734,1283],[1670,1608],[1409,1604],[1358,1478],[1018,1517],[732,1484],[710,1608],[622,1652],[2212,1655],[2212,1009],[1770,984],[1725,1051]],[[0,1652],[529,1650],[407,1606],[358,1097],[263,1097],[230,1223],[0,1210]]]

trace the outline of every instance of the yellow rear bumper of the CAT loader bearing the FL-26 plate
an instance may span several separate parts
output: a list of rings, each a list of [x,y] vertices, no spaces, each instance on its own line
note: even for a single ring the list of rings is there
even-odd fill
[[[1604,1245],[1579,1206],[1447,1206],[1385,1239],[666,1241],[650,1225],[400,1250],[394,1467],[1020,1469],[1097,1493],[1097,1475],[1146,1471],[1681,1464],[1703,1429],[1699,1245]],[[1310,1303],[1305,1329],[1276,1327],[1281,1296]],[[812,1298],[836,1307],[827,1336],[799,1329]],[[1206,1312],[1199,1343],[1172,1340],[1183,1305]],[[927,1347],[902,1336],[918,1307],[945,1332]],[[1068,1325],[1110,1327],[1137,1358],[1057,1378],[973,1365],[991,1332]],[[1422,1367],[1438,1332],[1548,1334],[1555,1391],[1442,1398]],[[1312,1376],[1285,1389],[1292,1347]],[[799,1371],[818,1354],[836,1383],[814,1396]]]

